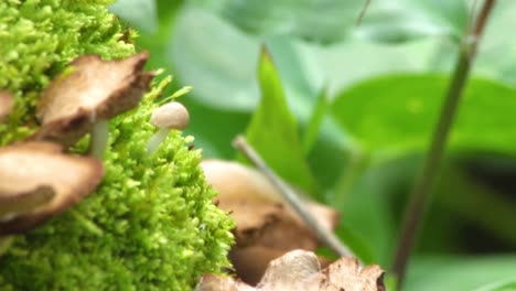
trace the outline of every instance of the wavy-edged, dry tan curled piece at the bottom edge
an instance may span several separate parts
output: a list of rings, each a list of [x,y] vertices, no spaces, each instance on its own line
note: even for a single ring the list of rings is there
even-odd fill
[[[315,255],[292,250],[272,260],[260,282],[252,288],[230,277],[203,276],[198,291],[385,291],[384,271],[377,265],[361,268],[354,258],[341,258],[321,270]]]

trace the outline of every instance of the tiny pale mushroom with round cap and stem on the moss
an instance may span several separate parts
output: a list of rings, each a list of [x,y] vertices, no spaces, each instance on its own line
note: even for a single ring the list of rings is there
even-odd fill
[[[189,122],[189,110],[182,104],[171,101],[160,106],[151,116],[151,123],[159,129],[147,142],[147,152],[151,154],[158,150],[171,129],[183,130]]]

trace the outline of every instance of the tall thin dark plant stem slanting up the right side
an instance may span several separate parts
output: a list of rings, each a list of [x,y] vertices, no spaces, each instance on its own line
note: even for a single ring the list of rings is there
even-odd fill
[[[459,58],[455,64],[452,80],[448,88],[444,105],[442,107],[438,125],[436,126],[422,170],[416,180],[410,195],[411,198],[407,207],[399,242],[394,257],[391,270],[398,278],[398,287],[401,287],[404,282],[407,263],[421,225],[427,202],[429,201],[429,194],[431,193],[438,174],[448,136],[459,107],[460,97],[470,75],[472,61],[477,50],[480,36],[482,35],[485,22],[494,3],[495,0],[484,1],[484,6],[477,17],[477,21],[472,33],[467,34],[461,43]]]

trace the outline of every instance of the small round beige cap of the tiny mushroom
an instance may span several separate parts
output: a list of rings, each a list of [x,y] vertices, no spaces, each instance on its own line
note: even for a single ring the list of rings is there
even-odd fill
[[[152,112],[151,123],[162,129],[183,130],[189,126],[189,110],[180,103],[162,105]]]

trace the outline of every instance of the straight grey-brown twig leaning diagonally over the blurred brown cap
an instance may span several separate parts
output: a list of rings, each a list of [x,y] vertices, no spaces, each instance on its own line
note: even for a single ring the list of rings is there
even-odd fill
[[[290,206],[292,206],[299,216],[301,216],[304,223],[315,231],[321,242],[326,245],[340,257],[355,257],[353,252],[341,242],[333,231],[327,229],[315,217],[313,217],[295,192],[264,162],[261,157],[249,143],[247,143],[244,137],[236,137],[233,141],[233,146],[246,155],[246,158],[249,159],[249,161],[251,161],[256,168],[279,190],[283,195],[283,198],[290,204]]]

